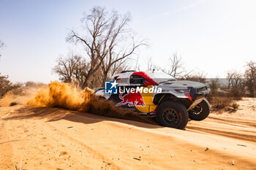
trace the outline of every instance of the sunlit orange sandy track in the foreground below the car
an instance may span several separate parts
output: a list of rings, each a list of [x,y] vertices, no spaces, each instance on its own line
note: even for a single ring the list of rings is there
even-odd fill
[[[46,107],[0,117],[0,169],[21,156],[23,169],[256,169],[252,118],[212,114],[181,131]]]

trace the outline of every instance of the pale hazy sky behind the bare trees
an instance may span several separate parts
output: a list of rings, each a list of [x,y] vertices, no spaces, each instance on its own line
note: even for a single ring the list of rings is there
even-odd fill
[[[1,74],[12,82],[57,80],[51,73],[56,58],[75,49],[66,36],[94,6],[131,13],[130,27],[148,40],[138,52],[141,69],[147,58],[166,67],[172,53],[207,77],[243,72],[246,61],[256,61],[255,0],[0,0]]]

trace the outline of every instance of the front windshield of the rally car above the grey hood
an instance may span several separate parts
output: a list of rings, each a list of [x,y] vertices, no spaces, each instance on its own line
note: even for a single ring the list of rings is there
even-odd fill
[[[157,83],[176,80],[176,78],[170,76],[165,72],[147,72],[147,74],[149,75],[149,77],[151,77],[151,79],[153,79]]]

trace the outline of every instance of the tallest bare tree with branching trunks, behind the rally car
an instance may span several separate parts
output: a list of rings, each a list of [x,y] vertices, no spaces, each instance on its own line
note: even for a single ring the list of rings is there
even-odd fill
[[[83,34],[72,30],[67,36],[68,42],[83,45],[89,56],[89,69],[82,88],[88,85],[89,79],[99,68],[102,69],[104,82],[116,62],[128,58],[140,45],[143,45],[143,42],[135,42],[133,37],[132,42],[128,43],[125,34],[129,33],[126,29],[129,21],[129,14],[121,16],[116,11],[106,12],[105,8],[94,7],[90,15],[82,18],[85,26]],[[119,45],[122,44],[128,45],[120,47]]]

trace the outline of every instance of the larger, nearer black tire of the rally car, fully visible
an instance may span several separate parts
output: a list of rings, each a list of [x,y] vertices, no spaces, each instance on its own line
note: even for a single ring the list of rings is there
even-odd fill
[[[183,104],[165,101],[157,107],[156,120],[162,126],[184,129],[189,120],[189,114]]]

